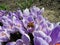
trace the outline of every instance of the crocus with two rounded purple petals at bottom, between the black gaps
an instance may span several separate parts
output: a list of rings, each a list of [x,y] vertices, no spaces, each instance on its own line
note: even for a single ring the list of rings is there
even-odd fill
[[[29,36],[27,34],[22,35],[22,39],[18,39],[16,45],[30,45]]]

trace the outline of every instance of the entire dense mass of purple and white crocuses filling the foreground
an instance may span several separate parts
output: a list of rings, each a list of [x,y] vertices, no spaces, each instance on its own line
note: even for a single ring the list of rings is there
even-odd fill
[[[36,6],[15,12],[0,11],[0,45],[60,45],[60,25],[43,17]]]

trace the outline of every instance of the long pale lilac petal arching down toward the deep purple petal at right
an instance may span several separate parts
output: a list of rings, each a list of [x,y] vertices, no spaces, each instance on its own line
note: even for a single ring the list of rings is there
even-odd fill
[[[35,31],[33,33],[34,37],[42,37],[45,41],[47,41],[48,43],[51,42],[51,37],[47,36],[44,32],[42,31]]]

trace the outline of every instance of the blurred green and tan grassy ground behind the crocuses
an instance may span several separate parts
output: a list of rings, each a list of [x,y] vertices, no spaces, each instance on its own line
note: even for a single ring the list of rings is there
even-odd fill
[[[44,7],[45,12],[43,16],[51,22],[60,21],[60,0],[0,0],[0,10],[24,10],[34,5],[39,8]]]

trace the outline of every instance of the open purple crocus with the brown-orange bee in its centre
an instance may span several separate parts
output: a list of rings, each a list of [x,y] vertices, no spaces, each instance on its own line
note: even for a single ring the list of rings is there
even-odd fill
[[[33,32],[34,27],[32,27],[32,26],[35,26],[34,25],[35,22],[34,22],[34,19],[32,16],[28,16],[27,18],[23,19],[22,22],[24,24],[24,27],[27,29],[26,31]],[[29,27],[28,25],[29,26],[31,25],[31,26]]]

